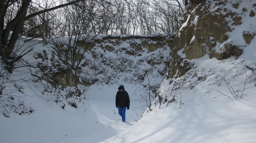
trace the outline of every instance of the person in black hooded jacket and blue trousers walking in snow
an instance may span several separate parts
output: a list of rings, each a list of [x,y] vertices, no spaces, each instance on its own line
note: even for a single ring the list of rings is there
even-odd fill
[[[124,90],[124,86],[118,87],[116,95],[116,107],[118,108],[118,114],[122,117],[122,121],[125,122],[125,111],[130,109],[130,97],[128,92]]]

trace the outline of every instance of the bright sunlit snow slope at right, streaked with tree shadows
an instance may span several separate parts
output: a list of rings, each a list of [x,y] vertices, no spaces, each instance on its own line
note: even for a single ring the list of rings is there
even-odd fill
[[[176,95],[177,102],[162,103],[161,106],[157,104],[153,111],[139,120],[138,124],[102,143],[256,142],[255,73],[244,69],[244,65],[247,64],[254,65],[255,68],[255,60],[201,59],[195,61],[195,64],[197,68],[192,69],[190,74],[176,79],[177,82],[182,81],[182,85],[175,86],[175,83],[169,85],[169,80],[161,85],[160,94]],[[220,67],[225,69],[226,80],[238,91],[239,97],[236,99],[226,84],[214,73],[216,71],[221,74]],[[242,82],[246,80],[245,72],[252,78],[246,81],[245,90],[240,98],[244,86]],[[180,88],[175,89],[176,87]],[[171,89],[173,89],[172,93]],[[170,99],[169,96],[169,101]]]

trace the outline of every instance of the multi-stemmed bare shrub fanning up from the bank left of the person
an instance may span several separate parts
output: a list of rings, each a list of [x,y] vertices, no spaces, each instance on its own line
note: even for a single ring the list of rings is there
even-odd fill
[[[65,11],[69,11],[69,13],[64,13],[63,17],[67,23],[68,43],[64,43],[66,47],[58,44],[56,47],[58,48],[57,52],[65,60],[64,63],[74,71],[74,74],[81,66],[84,54],[94,38],[102,31],[107,32],[106,25],[101,25],[101,22],[105,20],[105,16],[101,15],[102,4],[104,3],[91,0],[65,7]]]

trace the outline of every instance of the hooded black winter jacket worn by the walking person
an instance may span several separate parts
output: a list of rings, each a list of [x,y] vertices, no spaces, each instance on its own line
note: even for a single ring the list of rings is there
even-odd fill
[[[124,86],[120,85],[119,89],[123,89],[123,91],[118,91],[116,95],[116,107],[130,107],[130,97],[128,93],[124,90]]]

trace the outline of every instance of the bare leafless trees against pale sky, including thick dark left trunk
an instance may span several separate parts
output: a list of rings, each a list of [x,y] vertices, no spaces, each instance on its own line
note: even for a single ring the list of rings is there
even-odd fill
[[[1,60],[11,72],[20,36],[176,33],[184,8],[182,0],[1,0]]]

